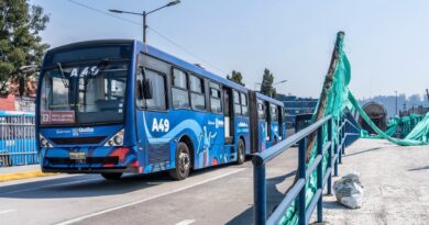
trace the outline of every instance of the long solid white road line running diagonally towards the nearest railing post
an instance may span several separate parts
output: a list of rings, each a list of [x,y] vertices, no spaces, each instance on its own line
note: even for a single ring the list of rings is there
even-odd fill
[[[173,191],[168,191],[168,192],[165,192],[165,193],[156,194],[156,195],[153,195],[153,196],[150,196],[150,198],[146,198],[146,199],[142,199],[142,200],[139,200],[139,201],[135,201],[135,202],[130,202],[130,203],[127,203],[127,204],[123,204],[123,205],[106,209],[106,210],[102,210],[102,211],[99,211],[99,212],[96,212],[96,213],[78,216],[76,218],[72,218],[72,220],[67,220],[67,221],[61,222],[61,223],[58,223],[56,225],[68,225],[68,224],[73,224],[73,223],[76,223],[76,222],[80,222],[80,221],[86,220],[86,218],[90,218],[90,217],[94,217],[94,216],[98,216],[98,215],[102,215],[102,214],[106,214],[106,213],[110,213],[112,211],[121,210],[121,209],[124,209],[124,207],[130,207],[130,206],[143,203],[143,202],[147,202],[147,201],[161,198],[161,196],[165,196],[165,195],[168,195],[168,194],[173,194],[173,193],[177,193],[177,192],[184,191],[186,189],[190,189],[190,188],[194,188],[194,187],[197,187],[197,185],[201,185],[204,183],[208,183],[208,182],[211,182],[211,181],[215,181],[215,180],[228,177],[230,175],[241,172],[241,171],[243,171],[246,168],[240,168],[238,170],[234,170],[234,171],[231,171],[231,172],[227,172],[227,173],[220,175],[218,177],[209,178],[207,180],[202,180],[202,181],[199,181],[199,182],[196,182],[196,183],[193,183],[190,185],[186,185],[186,187],[173,190]]]

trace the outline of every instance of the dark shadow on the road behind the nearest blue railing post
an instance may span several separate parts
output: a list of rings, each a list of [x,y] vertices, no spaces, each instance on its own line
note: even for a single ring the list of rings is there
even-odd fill
[[[277,184],[285,182],[286,179],[288,179],[288,178],[293,179],[295,176],[295,172],[296,172],[296,170],[294,170],[289,173],[274,177],[274,178],[270,178],[266,180],[266,193],[267,193],[267,196],[266,196],[267,205],[266,206],[267,206],[268,215],[282,202],[283,198],[285,196],[285,193],[278,191]],[[228,225],[242,225],[242,224],[252,224],[252,223],[253,223],[253,206],[249,207],[248,210],[245,210],[241,214],[237,215],[231,221],[229,221],[227,224]]]

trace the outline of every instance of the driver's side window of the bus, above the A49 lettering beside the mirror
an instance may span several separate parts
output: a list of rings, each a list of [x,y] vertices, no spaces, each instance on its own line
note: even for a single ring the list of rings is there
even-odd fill
[[[165,94],[165,75],[156,72],[151,69],[144,69],[144,77],[152,83],[153,94],[152,99],[138,99],[139,108],[148,110],[167,110],[167,101]],[[136,80],[143,81],[143,74],[139,71]],[[136,90],[139,91],[139,90]]]

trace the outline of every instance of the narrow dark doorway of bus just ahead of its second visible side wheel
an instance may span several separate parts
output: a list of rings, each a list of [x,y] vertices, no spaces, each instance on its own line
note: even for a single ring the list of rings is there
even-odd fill
[[[232,98],[229,88],[223,88],[223,105],[224,143],[230,145],[234,140],[234,116],[232,115]]]

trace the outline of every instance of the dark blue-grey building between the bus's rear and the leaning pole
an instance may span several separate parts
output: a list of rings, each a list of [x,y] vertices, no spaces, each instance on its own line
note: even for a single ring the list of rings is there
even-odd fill
[[[312,114],[318,99],[300,98],[296,95],[277,94],[277,99],[285,104],[286,127],[295,127],[295,119],[299,114]]]

